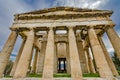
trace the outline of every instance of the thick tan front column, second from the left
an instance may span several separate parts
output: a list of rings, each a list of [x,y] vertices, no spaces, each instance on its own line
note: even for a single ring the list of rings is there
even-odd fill
[[[34,42],[34,31],[30,30],[29,34],[27,35],[27,40],[24,45],[24,49],[22,51],[20,60],[18,62],[14,78],[24,78],[26,77],[29,63],[30,63],[30,57],[31,57],[31,51],[33,47]]]

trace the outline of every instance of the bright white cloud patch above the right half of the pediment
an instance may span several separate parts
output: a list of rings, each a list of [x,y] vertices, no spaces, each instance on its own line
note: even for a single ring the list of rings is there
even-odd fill
[[[54,6],[71,6],[81,8],[98,8],[105,5],[108,0],[56,0]]]

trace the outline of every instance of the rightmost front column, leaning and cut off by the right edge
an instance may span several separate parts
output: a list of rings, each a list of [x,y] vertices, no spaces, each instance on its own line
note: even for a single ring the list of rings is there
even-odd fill
[[[112,27],[109,27],[106,30],[106,33],[107,33],[108,38],[110,39],[110,41],[112,43],[112,46],[115,50],[117,57],[120,60],[120,38],[119,38],[119,36],[117,35],[117,33],[115,32],[115,30]]]

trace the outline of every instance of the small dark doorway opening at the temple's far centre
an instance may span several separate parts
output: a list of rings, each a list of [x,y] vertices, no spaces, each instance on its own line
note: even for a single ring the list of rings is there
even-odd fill
[[[58,73],[66,72],[66,58],[58,58]]]

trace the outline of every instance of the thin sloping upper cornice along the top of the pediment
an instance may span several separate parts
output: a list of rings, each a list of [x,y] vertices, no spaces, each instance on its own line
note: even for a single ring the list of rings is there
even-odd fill
[[[96,9],[87,9],[87,8],[75,8],[75,7],[54,7],[43,10],[36,10],[31,12],[26,12],[22,14],[45,14],[49,12],[58,12],[58,11],[66,11],[66,12],[107,12],[108,10],[96,10]]]

